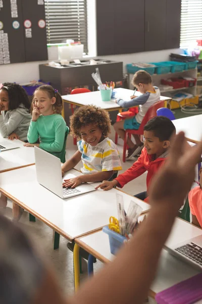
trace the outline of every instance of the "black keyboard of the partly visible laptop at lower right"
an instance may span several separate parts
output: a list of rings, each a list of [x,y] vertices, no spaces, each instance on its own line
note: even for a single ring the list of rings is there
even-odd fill
[[[182,255],[188,257],[195,263],[202,266],[202,247],[194,243],[189,243],[184,246],[176,248],[175,251],[181,253]]]

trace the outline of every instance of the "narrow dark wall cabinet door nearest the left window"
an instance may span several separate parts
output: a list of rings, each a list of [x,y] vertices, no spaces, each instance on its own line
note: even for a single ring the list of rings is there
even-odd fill
[[[96,0],[97,56],[114,55],[116,0]]]

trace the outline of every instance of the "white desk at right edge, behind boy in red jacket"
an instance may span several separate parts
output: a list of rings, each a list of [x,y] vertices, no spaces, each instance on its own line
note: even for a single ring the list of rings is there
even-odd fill
[[[177,133],[185,132],[187,140],[197,143],[202,139],[202,114],[172,121]]]

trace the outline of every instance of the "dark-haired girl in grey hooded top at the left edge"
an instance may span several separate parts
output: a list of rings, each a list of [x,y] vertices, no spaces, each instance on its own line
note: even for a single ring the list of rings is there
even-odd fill
[[[0,133],[13,140],[27,141],[31,103],[25,90],[12,83],[5,83],[0,90]]]

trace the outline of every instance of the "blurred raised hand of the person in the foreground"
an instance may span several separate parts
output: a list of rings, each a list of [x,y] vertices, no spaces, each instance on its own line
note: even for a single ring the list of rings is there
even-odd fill
[[[184,133],[180,132],[173,140],[168,160],[150,185],[151,204],[172,204],[173,211],[177,211],[191,188],[195,165],[199,162],[201,154],[202,141],[191,147]]]

